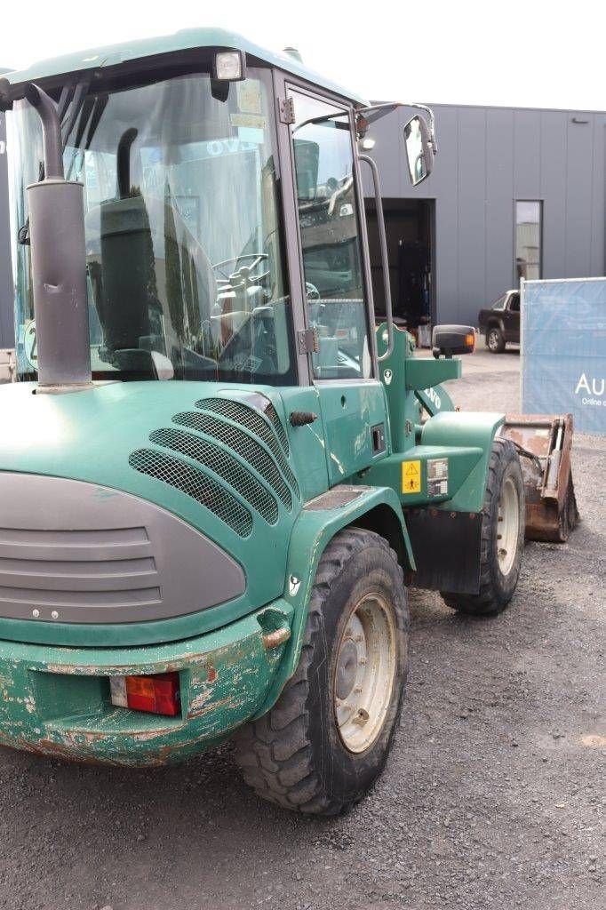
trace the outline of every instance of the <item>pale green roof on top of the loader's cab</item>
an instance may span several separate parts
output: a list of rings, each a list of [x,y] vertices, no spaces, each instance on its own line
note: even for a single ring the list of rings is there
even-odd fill
[[[144,38],[140,41],[127,41],[119,45],[93,47],[75,54],[52,57],[28,66],[26,69],[7,73],[5,77],[13,85],[21,82],[33,82],[48,76],[63,76],[68,73],[81,72],[87,69],[100,69],[105,66],[117,66],[131,60],[140,60],[147,56],[170,54],[176,51],[194,50],[197,47],[234,48],[246,54],[258,57],[259,60],[276,66],[306,79],[316,86],[328,89],[337,95],[344,96],[359,104],[367,104],[364,98],[348,89],[338,86],[288,53],[269,51],[265,47],[248,41],[242,35],[222,28],[187,28],[174,35]]]

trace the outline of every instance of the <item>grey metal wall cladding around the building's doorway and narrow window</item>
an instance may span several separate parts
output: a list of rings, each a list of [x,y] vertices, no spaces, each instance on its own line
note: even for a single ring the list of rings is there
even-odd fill
[[[439,154],[419,187],[409,184],[403,140],[414,111],[397,109],[369,136],[384,198],[435,199],[434,318],[474,324],[481,307],[517,284],[517,199],[543,203],[542,278],[605,273],[606,113],[433,109]]]

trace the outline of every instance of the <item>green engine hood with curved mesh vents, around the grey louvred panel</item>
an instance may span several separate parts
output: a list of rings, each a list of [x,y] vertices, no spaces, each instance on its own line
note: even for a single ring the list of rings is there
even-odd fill
[[[243,568],[245,593],[196,614],[203,622],[187,618],[173,638],[231,622],[282,595],[301,501],[276,389],[159,381],[110,382],[65,395],[35,389],[0,389],[0,470],[85,481],[153,502]],[[52,515],[48,521],[51,527]]]

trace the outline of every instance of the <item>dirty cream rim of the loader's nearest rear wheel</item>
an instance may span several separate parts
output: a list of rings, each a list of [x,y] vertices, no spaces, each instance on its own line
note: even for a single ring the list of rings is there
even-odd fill
[[[367,594],[349,616],[335,666],[335,717],[349,752],[365,752],[379,737],[395,675],[393,611],[378,593]]]

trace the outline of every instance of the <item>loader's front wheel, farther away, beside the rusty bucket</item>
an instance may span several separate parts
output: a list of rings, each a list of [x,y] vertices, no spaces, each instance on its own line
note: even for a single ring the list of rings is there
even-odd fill
[[[500,613],[520,576],[525,530],[524,482],[520,458],[510,440],[496,439],[490,454],[480,531],[480,591],[440,591],[444,602],[471,616]]]

